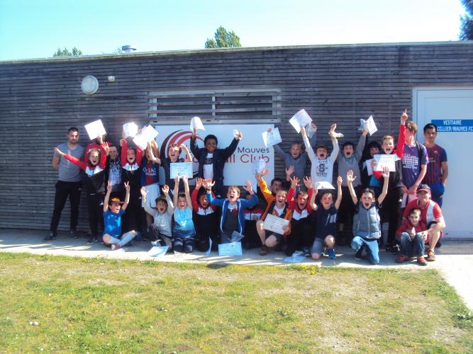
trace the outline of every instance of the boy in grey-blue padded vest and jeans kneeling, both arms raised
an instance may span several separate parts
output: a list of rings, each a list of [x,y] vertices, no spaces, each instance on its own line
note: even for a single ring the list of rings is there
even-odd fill
[[[381,237],[381,224],[379,223],[379,205],[383,202],[388,191],[389,169],[383,169],[384,184],[382,193],[378,200],[374,198],[374,190],[365,188],[362,190],[360,201],[357,199],[352,182],[353,171],[347,172],[347,185],[352,196],[352,201],[356,205],[355,217],[353,217],[353,239],[352,249],[356,251],[355,259],[361,259],[363,247],[366,246],[369,262],[379,264],[378,239]]]

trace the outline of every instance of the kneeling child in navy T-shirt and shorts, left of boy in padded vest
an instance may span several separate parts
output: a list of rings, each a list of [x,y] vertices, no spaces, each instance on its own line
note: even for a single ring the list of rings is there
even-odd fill
[[[312,223],[316,224],[316,237],[312,244],[311,257],[317,261],[325,249],[328,249],[328,258],[335,259],[335,234],[337,233],[337,212],[342,202],[342,178],[337,178],[337,200],[333,203],[333,195],[326,190],[321,195],[320,204],[316,204],[317,190],[314,190],[311,197]]]

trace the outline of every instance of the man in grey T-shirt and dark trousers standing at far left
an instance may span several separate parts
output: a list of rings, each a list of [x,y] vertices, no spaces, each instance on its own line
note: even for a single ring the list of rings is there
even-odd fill
[[[84,147],[77,144],[79,141],[79,130],[76,127],[70,127],[67,130],[67,142],[57,147],[66,154],[81,159],[84,156]],[[62,209],[66,204],[67,197],[71,203],[70,236],[77,239],[77,219],[79,217],[79,201],[81,192],[81,177],[79,166],[72,164],[67,159],[60,157],[57,153],[52,158],[52,168],[59,171],[59,180],[56,183],[56,193],[54,197],[54,211],[52,212],[50,232],[43,239],[48,242],[57,239],[57,225],[61,218]]]

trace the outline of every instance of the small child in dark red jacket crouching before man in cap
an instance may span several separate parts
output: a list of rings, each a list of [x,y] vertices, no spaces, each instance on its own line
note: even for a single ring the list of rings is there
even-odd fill
[[[413,254],[416,254],[417,263],[427,265],[424,258],[427,235],[427,225],[421,222],[421,210],[412,209],[409,212],[409,219],[404,219],[396,232],[396,237],[401,242],[401,253],[396,259],[396,263],[406,262]]]

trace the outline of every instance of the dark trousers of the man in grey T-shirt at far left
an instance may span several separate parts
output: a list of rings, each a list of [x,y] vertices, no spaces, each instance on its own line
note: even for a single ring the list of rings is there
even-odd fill
[[[52,212],[50,231],[57,232],[61,212],[66,205],[67,197],[71,203],[70,229],[76,229],[79,218],[79,201],[82,182],[57,181],[54,196],[54,211]]]

